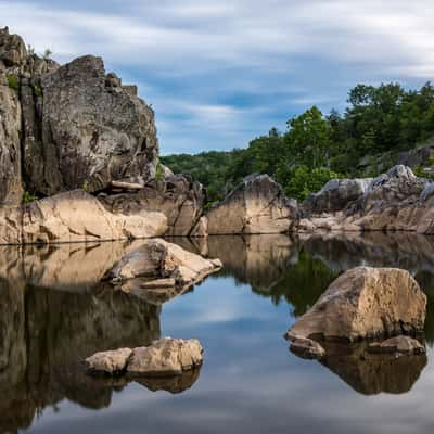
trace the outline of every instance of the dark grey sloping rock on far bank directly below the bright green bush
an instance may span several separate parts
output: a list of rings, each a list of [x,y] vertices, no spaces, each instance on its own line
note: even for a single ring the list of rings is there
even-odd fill
[[[303,208],[308,213],[322,214],[345,209],[353,201],[361,197],[368,190],[372,178],[332,179],[319,192],[311,194]]]

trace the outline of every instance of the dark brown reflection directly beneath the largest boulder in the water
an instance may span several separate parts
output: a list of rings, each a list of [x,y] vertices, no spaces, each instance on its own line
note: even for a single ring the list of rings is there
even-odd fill
[[[366,344],[326,343],[321,363],[363,395],[409,392],[426,366],[424,354],[417,356],[369,355]]]

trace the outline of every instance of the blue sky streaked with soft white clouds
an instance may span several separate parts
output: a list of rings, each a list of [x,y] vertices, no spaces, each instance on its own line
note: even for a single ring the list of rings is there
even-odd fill
[[[359,82],[434,77],[432,0],[0,0],[8,25],[66,63],[101,55],[152,104],[161,153],[244,148]]]

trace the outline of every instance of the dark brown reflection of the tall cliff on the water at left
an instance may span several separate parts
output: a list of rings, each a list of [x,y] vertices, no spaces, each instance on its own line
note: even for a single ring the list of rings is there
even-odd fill
[[[28,426],[65,397],[110,405],[114,386],[95,386],[78,361],[159,337],[158,307],[104,286],[71,293],[1,279],[0,314],[0,431]]]

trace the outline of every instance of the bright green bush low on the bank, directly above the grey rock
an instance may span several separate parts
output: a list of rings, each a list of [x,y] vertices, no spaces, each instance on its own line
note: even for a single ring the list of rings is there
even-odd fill
[[[328,167],[316,167],[309,169],[307,166],[298,166],[293,170],[290,181],[285,187],[285,194],[297,201],[304,201],[315,193],[331,179],[340,178],[340,175]]]

